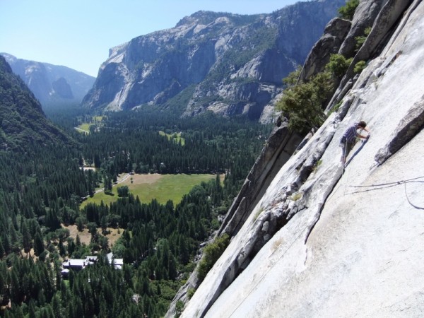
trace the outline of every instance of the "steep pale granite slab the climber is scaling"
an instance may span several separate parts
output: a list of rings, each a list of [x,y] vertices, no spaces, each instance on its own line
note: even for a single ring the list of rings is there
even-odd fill
[[[338,112],[262,189],[181,317],[423,314],[424,4],[377,2],[356,54],[367,67],[348,71]],[[339,141],[359,120],[371,136],[343,170]]]

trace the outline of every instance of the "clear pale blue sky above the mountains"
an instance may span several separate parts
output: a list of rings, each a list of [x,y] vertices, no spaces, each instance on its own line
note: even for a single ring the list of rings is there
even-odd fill
[[[0,52],[97,76],[109,49],[199,10],[271,13],[297,0],[0,0]]]

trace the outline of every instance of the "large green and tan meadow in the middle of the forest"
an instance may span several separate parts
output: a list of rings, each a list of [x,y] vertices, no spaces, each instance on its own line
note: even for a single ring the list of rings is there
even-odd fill
[[[117,188],[125,185],[131,194],[139,196],[141,202],[148,203],[152,199],[156,199],[160,204],[165,204],[168,200],[178,204],[182,196],[188,194],[196,184],[201,184],[202,181],[208,182],[214,178],[215,175],[129,175],[123,182],[113,185],[113,195],[99,192],[93,198],[83,201],[81,208],[89,202],[100,204],[103,201],[104,204],[110,204],[110,202],[116,201],[118,199]]]

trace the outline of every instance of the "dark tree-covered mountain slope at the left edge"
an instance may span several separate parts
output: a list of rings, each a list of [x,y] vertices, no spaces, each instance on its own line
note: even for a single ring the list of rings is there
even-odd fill
[[[0,56],[0,149],[28,151],[46,143],[72,142],[51,124],[40,102]]]

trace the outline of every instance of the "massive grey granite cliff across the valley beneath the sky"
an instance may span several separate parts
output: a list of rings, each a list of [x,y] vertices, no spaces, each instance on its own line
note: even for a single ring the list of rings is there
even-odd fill
[[[110,49],[83,105],[162,106],[184,116],[211,110],[267,122],[282,78],[303,64],[343,2],[300,2],[253,16],[196,12]]]

